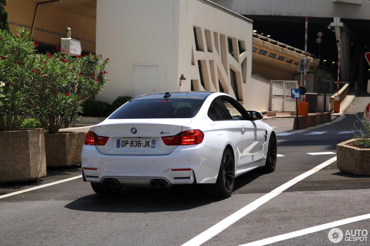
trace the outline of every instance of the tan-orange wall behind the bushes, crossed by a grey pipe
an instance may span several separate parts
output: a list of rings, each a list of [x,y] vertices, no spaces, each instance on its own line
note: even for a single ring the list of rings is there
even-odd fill
[[[13,34],[17,27],[31,31],[37,0],[10,0],[5,6]],[[81,41],[84,52],[95,52],[96,1],[63,0],[39,6],[33,40],[40,44],[60,45],[70,27],[72,36]]]

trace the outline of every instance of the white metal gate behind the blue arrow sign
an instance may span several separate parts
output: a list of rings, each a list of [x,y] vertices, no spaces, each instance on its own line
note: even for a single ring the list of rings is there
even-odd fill
[[[295,110],[295,99],[292,99],[291,89],[298,88],[298,81],[271,81],[271,111]]]

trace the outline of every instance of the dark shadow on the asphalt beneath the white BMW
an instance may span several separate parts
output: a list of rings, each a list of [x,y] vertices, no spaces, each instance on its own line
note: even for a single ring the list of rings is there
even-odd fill
[[[145,213],[184,211],[220,201],[207,196],[202,185],[174,185],[169,189],[122,188],[114,197],[81,197],[65,208],[90,212]]]

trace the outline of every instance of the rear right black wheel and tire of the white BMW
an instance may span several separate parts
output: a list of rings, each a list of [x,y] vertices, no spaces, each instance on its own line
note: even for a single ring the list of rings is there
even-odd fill
[[[226,148],[223,151],[220,170],[215,184],[209,185],[209,192],[213,197],[228,198],[234,188],[235,161],[232,151]]]

